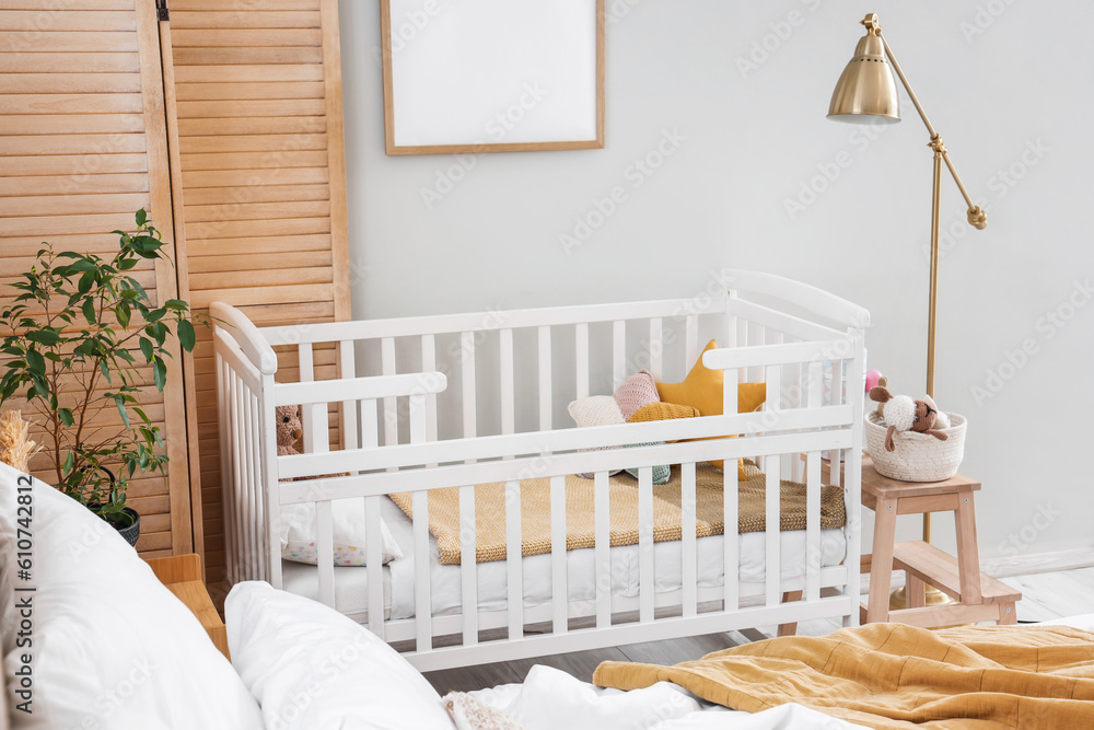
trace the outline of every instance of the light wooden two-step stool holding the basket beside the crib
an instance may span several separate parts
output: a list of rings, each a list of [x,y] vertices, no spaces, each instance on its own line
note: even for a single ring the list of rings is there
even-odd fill
[[[862,558],[870,571],[870,599],[862,606],[862,623],[899,622],[933,627],[994,621],[1017,622],[1015,603],[1022,593],[980,572],[976,544],[974,493],[980,483],[957,474],[945,482],[898,482],[878,474],[869,459],[862,461],[862,503],[874,510],[874,547]],[[922,541],[894,544],[899,514],[954,512],[957,556]],[[908,576],[908,607],[889,610],[893,570]],[[928,606],[926,584],[934,586],[956,603]]]

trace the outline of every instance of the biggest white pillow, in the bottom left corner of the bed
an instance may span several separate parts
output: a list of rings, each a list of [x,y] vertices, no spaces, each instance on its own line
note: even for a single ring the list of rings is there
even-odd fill
[[[30,558],[20,541],[33,543]],[[117,531],[7,464],[0,464],[0,549],[13,727],[263,727],[258,705],[201,624]],[[28,617],[15,605],[24,601]],[[16,635],[27,628],[30,636]],[[27,702],[19,694],[27,664],[31,714],[18,709]]]

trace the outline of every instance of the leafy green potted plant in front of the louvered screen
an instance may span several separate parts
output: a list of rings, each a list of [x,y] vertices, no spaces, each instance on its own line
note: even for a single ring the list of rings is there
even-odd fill
[[[31,270],[9,285],[18,296],[0,312],[10,333],[0,340],[8,360],[0,405],[26,399],[45,424],[54,486],[136,545],[140,515],[126,506],[129,480],[138,471],[166,478],[167,464],[140,395],[149,371],[163,391],[168,340],[193,351],[195,332],[186,302],[154,304],[131,275],[142,260],[163,258],[146,211],[137,211],[136,233],[114,233],[119,248],[110,258],[44,243]]]

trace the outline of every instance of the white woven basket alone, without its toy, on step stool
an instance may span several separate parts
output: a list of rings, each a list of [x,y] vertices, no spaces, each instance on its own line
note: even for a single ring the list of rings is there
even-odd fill
[[[942,482],[957,473],[965,455],[964,416],[948,414],[950,428],[945,441],[933,436],[905,431],[893,434],[895,451],[885,451],[885,432],[888,430],[876,410],[866,414],[866,450],[878,474],[901,482]]]

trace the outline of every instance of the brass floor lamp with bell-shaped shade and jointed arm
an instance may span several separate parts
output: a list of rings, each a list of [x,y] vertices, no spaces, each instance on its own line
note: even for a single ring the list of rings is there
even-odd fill
[[[927,118],[927,113],[919,103],[916,92],[911,90],[911,84],[900,70],[893,50],[882,35],[882,28],[877,24],[877,15],[870,13],[862,21],[866,26],[866,35],[859,40],[854,48],[854,57],[843,69],[843,73],[836,82],[836,90],[831,94],[831,103],[828,106],[828,118],[834,121],[846,121],[850,124],[896,124],[900,120],[900,100],[897,94],[896,80],[889,71],[893,71],[900,79],[911,103],[916,105],[916,111],[927,125],[927,131],[931,135],[928,143],[934,150],[934,195],[931,202],[931,294],[930,311],[927,327],[927,394],[934,397],[934,334],[938,320],[938,294],[939,294],[939,207],[942,196],[942,163],[946,163],[950,174],[953,175],[957,188],[961,190],[965,202],[968,206],[968,222],[976,229],[984,229],[987,224],[987,217],[978,206],[973,204],[973,199],[961,182],[954,163],[950,160],[945,141],[942,136],[934,130],[931,120]],[[931,542],[931,515],[923,514],[923,542]],[[928,604],[944,603],[947,596],[933,587],[928,587]],[[903,607],[907,605],[903,589],[894,594],[892,607]]]

